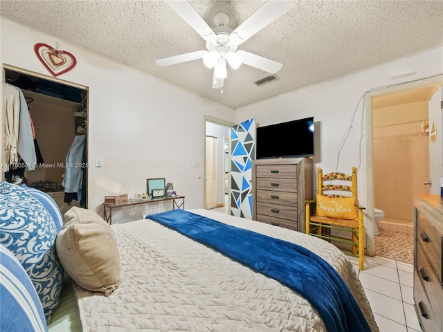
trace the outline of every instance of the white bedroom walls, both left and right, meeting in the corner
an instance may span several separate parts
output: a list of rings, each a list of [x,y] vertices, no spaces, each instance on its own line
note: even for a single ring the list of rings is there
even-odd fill
[[[325,170],[335,169],[338,147],[366,91],[443,72],[443,48],[440,47],[251,104],[234,113],[228,107],[88,50],[7,19],[2,18],[0,22],[1,64],[49,76],[34,53],[36,43],[55,46],[58,42],[60,50],[67,50],[77,58],[77,66],[60,79],[89,87],[89,162],[93,162],[95,156],[104,158],[105,162],[102,169],[89,168],[89,208],[97,211],[101,211],[103,196],[145,192],[146,178],[153,177],[165,177],[167,182],[174,183],[177,192],[186,195],[186,208],[202,208],[205,115],[233,123],[256,118],[259,127],[315,116],[314,165]],[[415,74],[397,80],[389,78],[406,72]],[[361,166],[359,199],[365,204],[365,128],[359,153],[360,125],[364,119],[362,104],[356,109],[338,167],[345,170],[353,165]],[[195,162],[197,168],[193,167]]]

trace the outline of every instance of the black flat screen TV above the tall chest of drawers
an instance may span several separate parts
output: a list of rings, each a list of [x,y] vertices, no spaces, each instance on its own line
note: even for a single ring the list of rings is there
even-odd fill
[[[256,158],[314,156],[314,117],[258,127]]]

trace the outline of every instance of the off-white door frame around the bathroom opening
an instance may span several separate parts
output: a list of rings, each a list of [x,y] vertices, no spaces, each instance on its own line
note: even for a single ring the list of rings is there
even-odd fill
[[[417,80],[415,82],[408,82],[404,84],[398,84],[396,86],[390,86],[386,89],[379,89],[365,94],[365,123],[367,129],[366,133],[366,194],[367,194],[367,255],[374,255],[375,245],[375,223],[374,223],[374,208],[379,208],[375,205],[375,190],[374,190],[374,99],[382,95],[393,95],[395,93],[405,93],[419,88],[436,86],[437,88],[443,84],[443,75],[437,75],[435,77],[429,77],[423,80]],[[401,113],[399,114],[401,116]],[[418,135],[419,133],[417,133]],[[441,158],[441,153],[440,153]],[[440,159],[441,160],[441,159]],[[397,165],[401,167],[401,165]],[[411,213],[412,214],[412,213]]]

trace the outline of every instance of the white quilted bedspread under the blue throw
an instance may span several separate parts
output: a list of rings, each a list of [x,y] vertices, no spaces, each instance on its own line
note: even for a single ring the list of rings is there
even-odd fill
[[[336,247],[257,221],[190,212],[316,252],[343,276],[371,330],[378,331],[354,268]],[[112,228],[122,282],[109,297],[75,285],[84,331],[326,331],[316,310],[291,289],[173,230],[148,219]]]

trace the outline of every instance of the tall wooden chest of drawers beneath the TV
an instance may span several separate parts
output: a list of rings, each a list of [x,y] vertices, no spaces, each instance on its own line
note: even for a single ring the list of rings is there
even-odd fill
[[[312,199],[312,159],[253,160],[252,218],[305,232],[305,203]]]

